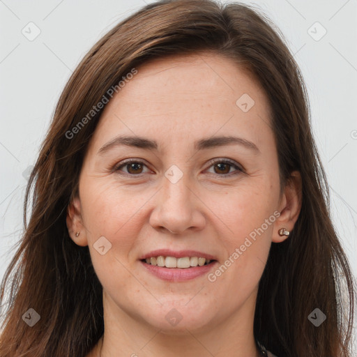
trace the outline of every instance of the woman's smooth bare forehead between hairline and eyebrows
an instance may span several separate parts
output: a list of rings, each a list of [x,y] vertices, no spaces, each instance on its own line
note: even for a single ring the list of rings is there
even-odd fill
[[[254,140],[250,131],[268,129],[261,128],[269,121],[264,91],[230,59],[218,54],[171,56],[136,69],[102,112],[95,142],[122,132],[184,140],[195,133],[202,137],[232,130]],[[248,111],[239,106],[244,102],[251,106]]]

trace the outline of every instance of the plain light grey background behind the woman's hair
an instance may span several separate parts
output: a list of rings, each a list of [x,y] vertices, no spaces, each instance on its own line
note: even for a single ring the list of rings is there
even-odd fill
[[[0,0],[0,278],[22,232],[26,169],[36,160],[64,84],[104,33],[148,2]],[[356,276],[357,0],[243,2],[278,24],[301,67],[333,222]],[[29,22],[40,29],[32,41],[22,34],[34,33]],[[315,22],[327,31],[319,40],[324,29]]]

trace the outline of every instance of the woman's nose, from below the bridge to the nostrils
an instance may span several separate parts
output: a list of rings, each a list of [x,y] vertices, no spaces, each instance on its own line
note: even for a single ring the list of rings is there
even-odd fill
[[[155,208],[149,220],[153,228],[167,229],[174,234],[203,229],[206,223],[202,211],[204,204],[185,176],[187,175],[184,174],[176,183],[163,177],[163,185],[155,195]]]

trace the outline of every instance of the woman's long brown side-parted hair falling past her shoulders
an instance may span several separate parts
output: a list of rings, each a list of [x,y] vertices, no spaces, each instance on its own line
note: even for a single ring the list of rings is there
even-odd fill
[[[1,284],[1,307],[7,303],[1,357],[85,356],[102,336],[102,287],[88,247],[73,243],[66,227],[66,208],[78,193],[102,109],[90,119],[88,113],[141,63],[200,52],[233,59],[257,79],[272,109],[281,185],[294,170],[302,177],[299,218],[289,239],[272,244],[259,282],[255,337],[278,357],[351,356],[356,288],[331,222],[307,92],[293,56],[279,30],[250,6],[166,0],[145,6],[105,34],[61,93],[26,188],[24,235]],[[85,125],[68,135],[86,116]],[[326,315],[318,327],[307,318],[316,308]],[[32,327],[23,318],[29,309],[40,315]]]

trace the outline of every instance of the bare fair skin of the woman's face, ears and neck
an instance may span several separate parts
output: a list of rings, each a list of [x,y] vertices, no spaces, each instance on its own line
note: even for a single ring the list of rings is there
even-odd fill
[[[294,228],[301,176],[292,173],[280,195],[268,100],[232,61],[203,53],[137,70],[105,107],[84,158],[79,197],[68,206],[70,236],[89,245],[103,287],[104,339],[86,357],[98,356],[101,345],[104,357],[260,356],[253,337],[258,283],[271,243],[287,238],[278,230]],[[248,112],[236,105],[243,93],[255,100]],[[158,151],[117,146],[99,155],[117,135],[154,139]],[[239,144],[194,149],[196,140],[218,135],[247,139],[259,152]],[[111,171],[128,158],[144,165]],[[244,171],[208,162],[213,158],[234,160]],[[165,177],[171,165],[183,174],[177,183]],[[138,260],[159,248],[192,249],[220,266],[275,211],[279,218],[215,282],[206,275],[160,280]],[[112,243],[105,255],[93,248],[100,236]],[[176,326],[165,319],[172,308],[182,317]]]

